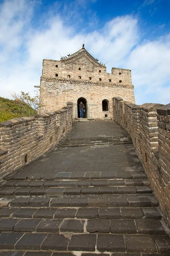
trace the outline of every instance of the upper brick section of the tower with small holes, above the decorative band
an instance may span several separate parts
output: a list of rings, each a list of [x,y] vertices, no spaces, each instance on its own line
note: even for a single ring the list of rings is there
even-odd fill
[[[80,70],[79,70],[80,69]],[[57,74],[57,77],[56,77]],[[55,61],[55,60],[43,60],[42,77],[56,78],[56,79],[68,79],[68,80],[81,80],[89,81],[91,77],[92,81],[99,81],[99,78],[104,82],[111,83],[124,83],[132,84],[131,70],[122,68],[112,68],[111,73],[107,73],[106,67],[99,64],[93,65],[84,56],[79,61]]]

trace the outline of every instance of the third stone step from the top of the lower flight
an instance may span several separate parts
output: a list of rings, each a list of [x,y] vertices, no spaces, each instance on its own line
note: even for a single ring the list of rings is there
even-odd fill
[[[0,195],[96,195],[152,193],[149,186],[36,187],[3,188]]]

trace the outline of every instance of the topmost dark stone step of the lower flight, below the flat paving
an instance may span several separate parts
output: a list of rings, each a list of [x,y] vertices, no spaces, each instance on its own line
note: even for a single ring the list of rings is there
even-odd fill
[[[106,163],[105,163],[106,164]],[[113,163],[112,163],[113,164]],[[99,163],[101,168],[101,163]],[[140,165],[140,163],[139,163]],[[130,168],[129,166],[124,166],[124,168]],[[137,166],[135,166],[137,167]],[[134,166],[132,166],[134,168]],[[115,169],[122,169],[122,167],[116,167]],[[4,177],[5,180],[108,180],[108,179],[147,179],[147,175],[142,171],[105,171],[105,172],[58,172],[57,174],[52,173],[22,173],[12,174]],[[12,181],[11,181],[12,183]]]

